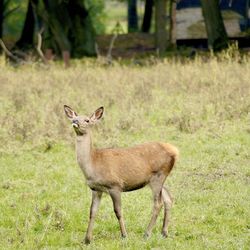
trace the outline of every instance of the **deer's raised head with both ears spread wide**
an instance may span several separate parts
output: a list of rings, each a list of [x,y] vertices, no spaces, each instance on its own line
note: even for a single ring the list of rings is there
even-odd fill
[[[98,108],[92,115],[77,115],[77,113],[69,106],[64,105],[64,111],[66,116],[72,123],[72,126],[77,135],[84,135],[88,132],[89,128],[96,124],[101,119],[104,108]]]

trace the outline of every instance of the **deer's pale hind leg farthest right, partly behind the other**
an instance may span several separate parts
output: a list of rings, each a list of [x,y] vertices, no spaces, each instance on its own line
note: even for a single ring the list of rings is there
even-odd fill
[[[170,219],[170,208],[172,207],[173,198],[171,197],[169,191],[166,187],[162,187],[162,200],[164,203],[164,218],[163,218],[163,226],[162,226],[162,235],[164,237],[168,236],[168,223]]]

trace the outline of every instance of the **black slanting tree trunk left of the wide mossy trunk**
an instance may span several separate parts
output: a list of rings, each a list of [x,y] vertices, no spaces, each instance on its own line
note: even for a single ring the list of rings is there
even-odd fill
[[[35,14],[32,4],[37,5],[38,0],[29,0],[22,34],[19,40],[16,42],[16,47],[20,49],[29,49],[33,46]]]

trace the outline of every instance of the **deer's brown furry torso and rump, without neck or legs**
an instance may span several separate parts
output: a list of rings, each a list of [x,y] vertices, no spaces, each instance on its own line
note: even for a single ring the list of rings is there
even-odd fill
[[[151,142],[131,148],[93,150],[92,162],[96,174],[102,177],[102,184],[130,191],[148,184],[158,172],[167,176],[177,157],[174,146]]]

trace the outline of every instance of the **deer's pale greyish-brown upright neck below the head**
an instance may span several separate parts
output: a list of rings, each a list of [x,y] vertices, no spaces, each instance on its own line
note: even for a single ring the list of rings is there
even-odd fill
[[[92,168],[92,141],[91,134],[87,132],[82,136],[76,137],[77,162],[82,169],[85,177],[90,179],[93,176]]]

